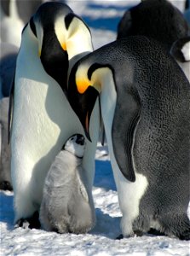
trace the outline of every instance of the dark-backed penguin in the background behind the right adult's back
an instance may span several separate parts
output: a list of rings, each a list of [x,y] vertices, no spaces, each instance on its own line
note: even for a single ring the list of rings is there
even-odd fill
[[[118,39],[135,35],[154,38],[170,52],[176,40],[187,37],[188,25],[181,11],[168,0],[141,0],[118,23]]]

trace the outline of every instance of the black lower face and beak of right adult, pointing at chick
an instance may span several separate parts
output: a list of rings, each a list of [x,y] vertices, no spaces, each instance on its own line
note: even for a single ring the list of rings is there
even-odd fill
[[[70,75],[68,83],[68,101],[73,111],[78,115],[78,119],[83,125],[86,137],[91,142],[89,134],[90,118],[95,107],[95,102],[99,96],[99,91],[95,87],[89,85],[83,93],[80,93],[77,84],[74,81],[74,75]]]

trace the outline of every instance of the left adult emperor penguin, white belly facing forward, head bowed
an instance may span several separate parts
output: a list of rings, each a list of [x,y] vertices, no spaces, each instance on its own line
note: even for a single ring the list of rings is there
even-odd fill
[[[14,107],[10,108],[14,222],[20,226],[39,210],[44,179],[62,144],[72,134],[83,134],[67,101],[67,71],[92,49],[89,28],[65,3],[43,3],[22,32],[10,104]],[[89,129],[92,137],[83,155],[83,183],[94,210],[91,189],[99,133],[98,102]]]

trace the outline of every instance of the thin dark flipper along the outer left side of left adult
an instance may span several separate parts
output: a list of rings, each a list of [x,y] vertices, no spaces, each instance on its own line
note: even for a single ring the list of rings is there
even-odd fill
[[[15,73],[14,73],[15,77]],[[8,143],[10,143],[11,127],[13,121],[13,106],[14,106],[14,78],[10,90],[9,96],[9,113],[8,113]]]

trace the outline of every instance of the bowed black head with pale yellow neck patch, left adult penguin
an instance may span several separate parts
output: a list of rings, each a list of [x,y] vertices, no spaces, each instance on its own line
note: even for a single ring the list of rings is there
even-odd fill
[[[43,3],[29,21],[46,73],[66,92],[69,60],[92,50],[89,28],[65,3]],[[83,38],[83,44],[78,44]]]

